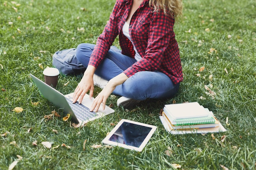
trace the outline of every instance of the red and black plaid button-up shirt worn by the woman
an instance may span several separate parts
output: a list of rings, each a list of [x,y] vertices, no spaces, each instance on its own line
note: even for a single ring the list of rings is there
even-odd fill
[[[152,12],[148,1],[144,0],[133,14],[129,28],[132,42],[142,59],[132,64],[123,73],[130,77],[139,71],[160,71],[177,84],[182,82],[183,75],[179,47],[173,31],[175,20],[170,15],[164,15],[162,10],[158,13]],[[132,0],[116,1],[110,20],[99,35],[89,65],[96,68],[99,66],[117,35],[119,35],[122,54],[129,57],[135,56],[132,43],[122,31],[131,4]]]

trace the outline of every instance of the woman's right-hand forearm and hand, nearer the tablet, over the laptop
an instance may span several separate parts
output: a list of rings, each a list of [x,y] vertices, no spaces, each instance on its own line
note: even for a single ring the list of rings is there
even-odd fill
[[[116,77],[110,79],[110,81],[103,88],[101,93],[99,93],[97,95],[97,97],[94,99],[90,111],[97,112],[99,110],[99,107],[101,106],[101,104],[102,104],[103,110],[105,110],[106,101],[107,101],[108,97],[110,96],[110,94],[115,90],[116,86],[123,84],[126,81],[126,79],[128,79],[128,77],[124,73],[121,73],[121,74],[117,75]]]

